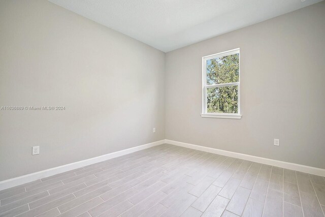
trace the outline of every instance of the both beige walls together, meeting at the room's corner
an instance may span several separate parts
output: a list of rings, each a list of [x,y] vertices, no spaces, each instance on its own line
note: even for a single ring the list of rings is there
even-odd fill
[[[66,110],[0,110],[0,181],[164,138],[325,168],[324,36],[321,2],[165,60],[47,1],[1,1],[0,106]],[[202,56],[237,47],[242,119],[202,118]]]

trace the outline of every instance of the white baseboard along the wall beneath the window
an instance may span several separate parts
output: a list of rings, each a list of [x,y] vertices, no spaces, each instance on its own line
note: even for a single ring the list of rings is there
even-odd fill
[[[168,143],[171,145],[177,145],[177,146],[181,146],[181,147],[186,147],[186,148],[191,148],[191,149],[196,149],[196,150],[201,150],[201,151],[206,151],[206,152],[210,152],[210,153],[221,154],[224,156],[238,158],[238,159],[247,160],[247,161],[252,161],[252,162],[256,162],[256,163],[268,164],[271,166],[282,167],[285,169],[310,173],[310,174],[314,174],[314,175],[325,176],[325,169],[321,169],[321,168],[310,167],[310,166],[294,164],[294,163],[288,163],[288,162],[284,162],[284,161],[277,161],[277,160],[272,160],[272,159],[267,159],[267,158],[261,158],[261,157],[251,156],[248,154],[226,151],[226,150],[210,148],[210,147],[205,147],[205,146],[200,146],[200,145],[194,145],[194,144],[189,144],[189,143],[184,143],[184,142],[177,142],[177,141],[173,141],[173,140],[169,140],[169,139],[165,139],[165,143]]]

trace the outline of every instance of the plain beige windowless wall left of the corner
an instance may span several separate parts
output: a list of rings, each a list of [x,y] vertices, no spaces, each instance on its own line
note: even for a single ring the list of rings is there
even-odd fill
[[[0,1],[0,106],[66,106],[0,110],[0,181],[164,139],[164,70],[165,53],[48,1]]]

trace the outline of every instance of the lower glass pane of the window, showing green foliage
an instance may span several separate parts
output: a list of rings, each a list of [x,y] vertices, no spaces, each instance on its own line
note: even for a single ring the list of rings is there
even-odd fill
[[[207,88],[208,113],[238,113],[238,86]]]

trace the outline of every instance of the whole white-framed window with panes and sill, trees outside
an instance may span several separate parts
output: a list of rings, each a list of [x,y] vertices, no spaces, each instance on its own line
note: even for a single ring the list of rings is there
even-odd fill
[[[240,119],[239,48],[203,60],[202,117]]]

